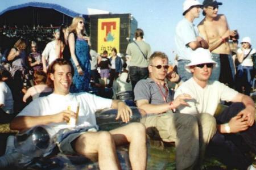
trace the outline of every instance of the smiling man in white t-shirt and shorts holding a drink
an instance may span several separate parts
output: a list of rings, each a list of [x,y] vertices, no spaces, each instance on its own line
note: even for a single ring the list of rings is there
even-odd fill
[[[130,143],[131,168],[146,169],[146,131],[142,124],[134,122],[109,132],[96,132],[94,113],[98,109],[118,109],[116,119],[122,118],[123,122],[129,122],[132,112],[125,103],[86,92],[71,94],[69,88],[74,70],[71,63],[64,59],[53,61],[48,73],[49,84],[54,87],[53,93],[28,104],[11,122],[11,129],[23,131],[36,125],[49,125],[57,133],[60,129],[70,128],[68,122],[76,118],[77,124],[73,128],[90,128],[90,130],[68,134],[62,141],[58,141],[57,146],[63,154],[80,154],[93,160],[96,157],[100,169],[120,169],[115,146]],[[78,116],[68,109],[71,103],[80,103]]]

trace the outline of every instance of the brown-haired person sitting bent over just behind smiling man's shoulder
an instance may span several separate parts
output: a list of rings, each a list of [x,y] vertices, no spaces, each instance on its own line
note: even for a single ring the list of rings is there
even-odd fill
[[[23,96],[23,101],[26,103],[28,97],[32,96],[32,99],[35,100],[39,96],[46,96],[51,94],[52,88],[48,87],[46,84],[47,74],[43,70],[35,71],[34,73],[34,82],[35,86],[28,88],[26,94]]]

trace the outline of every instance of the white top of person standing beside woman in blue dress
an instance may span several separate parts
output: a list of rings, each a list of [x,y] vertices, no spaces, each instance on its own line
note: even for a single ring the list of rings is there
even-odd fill
[[[55,61],[55,59],[57,59],[55,46],[56,46],[56,41],[53,40],[46,45],[46,48],[44,48],[42,56],[46,57],[47,65],[50,65],[53,61]]]

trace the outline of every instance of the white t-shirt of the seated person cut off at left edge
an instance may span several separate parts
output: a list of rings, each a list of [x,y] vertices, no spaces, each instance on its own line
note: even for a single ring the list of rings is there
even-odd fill
[[[0,82],[0,104],[3,104],[3,111],[13,114],[13,95],[5,82]]]

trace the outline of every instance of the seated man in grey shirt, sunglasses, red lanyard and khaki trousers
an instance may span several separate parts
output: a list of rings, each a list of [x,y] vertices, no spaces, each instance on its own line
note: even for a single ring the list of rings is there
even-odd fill
[[[216,121],[209,114],[195,117],[174,113],[191,97],[179,95],[171,101],[165,82],[169,67],[166,54],[155,52],[148,62],[149,78],[140,80],[134,89],[137,107],[146,112],[141,122],[151,138],[175,142],[177,169],[193,169],[203,159],[205,146],[216,131]],[[208,128],[201,131],[201,126]]]

